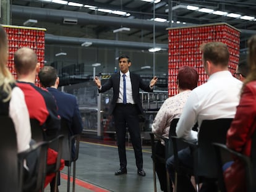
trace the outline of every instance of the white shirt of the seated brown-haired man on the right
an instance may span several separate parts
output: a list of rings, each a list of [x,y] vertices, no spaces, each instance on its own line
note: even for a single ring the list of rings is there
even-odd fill
[[[196,122],[200,127],[205,119],[234,118],[241,88],[242,81],[228,70],[213,73],[207,83],[191,91],[177,123],[177,136],[197,141],[197,132],[192,131]]]

